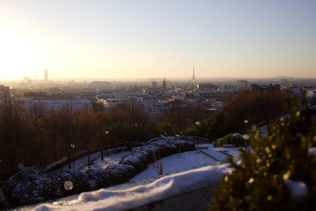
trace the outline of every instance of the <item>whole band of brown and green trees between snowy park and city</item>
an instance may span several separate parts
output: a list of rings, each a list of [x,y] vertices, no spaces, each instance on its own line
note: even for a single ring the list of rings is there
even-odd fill
[[[161,118],[149,118],[142,107],[76,109],[64,104],[48,110],[45,104],[28,109],[18,100],[3,100],[0,105],[0,181],[18,171],[17,164],[45,168],[76,152],[114,145],[125,141],[148,141],[158,134],[183,133],[216,140],[228,133],[245,132],[253,124],[269,122],[284,115],[283,104],[290,96],[274,92],[241,91],[216,113],[205,112],[203,103],[181,106],[171,101]],[[107,131],[107,133],[106,133]],[[68,166],[71,168],[71,159]]]

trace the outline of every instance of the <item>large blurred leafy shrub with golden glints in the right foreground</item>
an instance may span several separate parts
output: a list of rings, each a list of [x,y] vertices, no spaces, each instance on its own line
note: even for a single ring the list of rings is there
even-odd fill
[[[269,135],[253,129],[254,151],[242,150],[242,163],[229,159],[235,170],[218,183],[214,210],[316,210],[316,156],[308,153],[316,146],[316,123],[298,105],[287,106],[290,118],[273,123]],[[305,184],[306,194],[289,185],[296,182]]]

